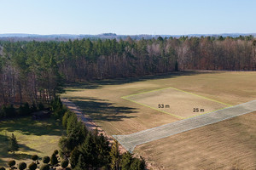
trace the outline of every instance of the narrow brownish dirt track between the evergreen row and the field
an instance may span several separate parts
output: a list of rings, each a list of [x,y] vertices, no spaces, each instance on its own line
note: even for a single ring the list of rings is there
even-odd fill
[[[63,105],[66,105],[67,108],[70,111],[73,111],[79,118],[79,120],[81,122],[84,122],[85,127],[87,127],[87,129],[89,131],[93,131],[97,128],[98,132],[101,134],[103,134],[103,136],[108,138],[108,141],[112,144],[113,143],[113,137],[111,135],[108,135],[103,129],[102,127],[99,127],[96,125],[95,122],[93,122],[92,119],[90,119],[89,116],[83,114],[83,111],[77,106],[75,105],[72,101],[69,101],[68,99],[61,99],[61,102]],[[119,151],[120,153],[124,153],[126,150],[125,148],[119,144]]]

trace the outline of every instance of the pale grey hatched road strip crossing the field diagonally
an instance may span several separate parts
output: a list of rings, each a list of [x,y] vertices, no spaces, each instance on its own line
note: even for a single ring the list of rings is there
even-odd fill
[[[210,113],[195,116],[182,121],[172,122],[160,127],[150,128],[128,135],[113,135],[126,150],[132,152],[139,144],[145,144],[157,139],[163,139],[177,133],[183,133],[197,127],[203,127],[215,122],[221,122],[234,116],[241,116],[256,111],[256,100],[249,101],[241,105],[235,105],[223,110],[212,111]]]

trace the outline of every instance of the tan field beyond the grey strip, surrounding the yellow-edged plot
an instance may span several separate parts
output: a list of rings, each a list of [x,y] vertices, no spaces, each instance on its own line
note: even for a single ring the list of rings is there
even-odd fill
[[[128,134],[179,120],[121,97],[158,88],[178,88],[226,104],[256,98],[256,72],[187,71],[159,77],[106,80],[67,87],[62,97],[72,99],[109,134]]]

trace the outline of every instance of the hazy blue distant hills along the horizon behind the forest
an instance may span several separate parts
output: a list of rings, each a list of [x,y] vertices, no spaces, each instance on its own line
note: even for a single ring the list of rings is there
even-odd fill
[[[103,33],[98,35],[89,35],[89,34],[52,34],[52,35],[39,35],[39,34],[21,34],[21,33],[10,33],[10,34],[0,34],[0,40],[3,41],[68,41],[69,39],[125,39],[127,37],[131,37],[132,39],[150,39],[157,37],[239,37],[239,36],[249,36],[253,35],[256,37],[256,33],[223,33],[223,34],[188,34],[188,35],[148,35],[148,34],[140,34],[140,35],[117,35],[115,33]]]

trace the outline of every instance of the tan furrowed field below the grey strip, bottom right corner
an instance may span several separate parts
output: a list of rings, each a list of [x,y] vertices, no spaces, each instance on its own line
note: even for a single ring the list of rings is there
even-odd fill
[[[256,112],[137,146],[165,169],[256,168]]]

